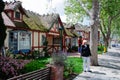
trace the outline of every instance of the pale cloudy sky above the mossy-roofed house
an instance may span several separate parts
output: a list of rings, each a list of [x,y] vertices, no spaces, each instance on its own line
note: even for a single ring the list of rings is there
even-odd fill
[[[14,1],[14,0],[3,0]],[[16,0],[18,1],[18,0]],[[66,22],[64,14],[64,1],[65,0],[19,0],[22,2],[23,8],[39,13],[40,15],[47,14],[48,12],[59,13],[61,20]]]

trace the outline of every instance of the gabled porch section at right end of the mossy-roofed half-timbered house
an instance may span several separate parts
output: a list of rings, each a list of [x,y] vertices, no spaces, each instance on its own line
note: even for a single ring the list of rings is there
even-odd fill
[[[64,51],[65,31],[60,16],[58,14],[47,14],[40,16],[43,25],[47,26],[46,38],[50,51]]]

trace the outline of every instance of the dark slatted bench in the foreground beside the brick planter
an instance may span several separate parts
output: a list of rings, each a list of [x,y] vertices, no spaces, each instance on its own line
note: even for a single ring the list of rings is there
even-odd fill
[[[44,69],[36,70],[7,80],[51,80],[51,68],[47,67]]]

